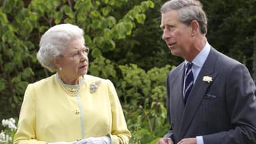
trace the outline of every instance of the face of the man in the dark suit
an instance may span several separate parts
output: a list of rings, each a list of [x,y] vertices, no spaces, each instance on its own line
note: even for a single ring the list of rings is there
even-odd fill
[[[189,54],[192,29],[179,21],[176,10],[161,14],[160,27],[163,29],[162,39],[167,43],[172,55],[184,58]]]

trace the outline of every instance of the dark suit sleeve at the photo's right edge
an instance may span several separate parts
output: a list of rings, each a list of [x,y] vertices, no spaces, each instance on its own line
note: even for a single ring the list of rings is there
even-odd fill
[[[223,83],[226,83],[225,99],[231,129],[203,135],[203,141],[205,144],[256,143],[255,83],[244,65],[233,65],[229,70]]]

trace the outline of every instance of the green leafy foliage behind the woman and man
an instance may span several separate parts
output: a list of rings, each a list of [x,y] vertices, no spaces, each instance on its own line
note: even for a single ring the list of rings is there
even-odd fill
[[[183,61],[161,40],[161,0],[0,0],[0,119],[18,117],[28,83],[48,77],[35,57],[41,35],[59,23],[85,31],[89,74],[111,79],[131,143],[155,143],[168,129],[165,77]],[[256,0],[201,0],[215,49],[244,63],[253,78]],[[1,129],[1,127],[0,127]]]

